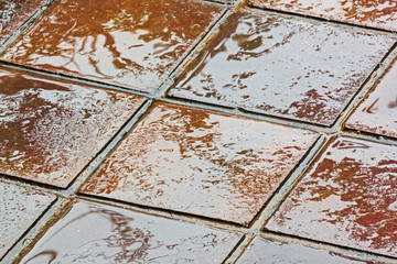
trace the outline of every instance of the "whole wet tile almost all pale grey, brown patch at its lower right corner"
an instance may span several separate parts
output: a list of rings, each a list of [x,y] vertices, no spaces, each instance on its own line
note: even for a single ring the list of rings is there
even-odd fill
[[[394,42],[361,29],[239,12],[170,95],[330,125]]]

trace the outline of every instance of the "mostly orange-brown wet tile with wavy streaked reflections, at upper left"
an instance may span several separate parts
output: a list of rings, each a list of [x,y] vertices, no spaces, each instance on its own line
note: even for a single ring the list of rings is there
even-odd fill
[[[2,58],[150,92],[224,10],[186,0],[60,0]]]

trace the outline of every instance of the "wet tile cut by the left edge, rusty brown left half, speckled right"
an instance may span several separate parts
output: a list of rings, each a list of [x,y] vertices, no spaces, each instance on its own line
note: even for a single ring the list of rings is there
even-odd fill
[[[0,69],[0,173],[66,187],[143,100]]]

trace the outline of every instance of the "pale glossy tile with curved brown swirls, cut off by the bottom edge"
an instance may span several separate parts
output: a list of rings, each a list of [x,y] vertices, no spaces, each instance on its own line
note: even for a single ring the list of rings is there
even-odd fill
[[[77,200],[21,263],[222,263],[240,238]]]

